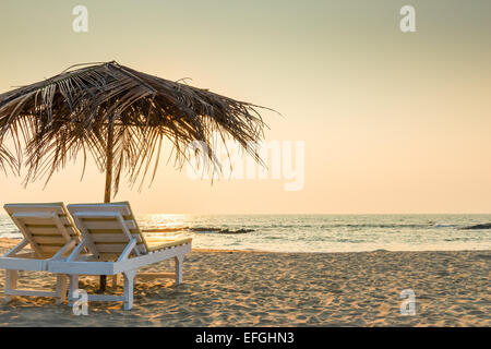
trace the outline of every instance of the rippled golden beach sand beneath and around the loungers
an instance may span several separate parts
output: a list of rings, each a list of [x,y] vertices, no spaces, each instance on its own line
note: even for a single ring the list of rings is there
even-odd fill
[[[15,242],[0,239],[0,253]],[[49,298],[17,297],[5,304],[1,270],[0,326],[490,326],[490,266],[491,251],[193,250],[184,284],[137,281],[133,310],[91,302],[86,316]],[[173,270],[173,263],[145,270]],[[55,285],[52,276],[34,272],[22,272],[20,281]],[[83,278],[81,286],[94,291],[97,281]],[[404,289],[416,294],[416,315],[400,314]]]

